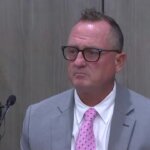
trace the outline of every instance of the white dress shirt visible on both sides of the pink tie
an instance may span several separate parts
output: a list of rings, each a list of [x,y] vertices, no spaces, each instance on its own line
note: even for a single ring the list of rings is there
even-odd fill
[[[115,105],[115,95],[116,83],[114,84],[114,88],[109,95],[105,97],[105,99],[99,104],[93,107],[98,112],[93,124],[93,130],[96,139],[96,150],[108,150],[111,118]],[[74,92],[74,98],[75,107],[71,150],[75,150],[75,141],[83,121],[83,115],[90,108],[80,100],[76,90]]]

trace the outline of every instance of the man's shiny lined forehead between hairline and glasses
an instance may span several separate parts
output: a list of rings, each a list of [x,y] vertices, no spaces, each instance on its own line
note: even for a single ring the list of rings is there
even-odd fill
[[[110,25],[106,21],[80,21],[71,30],[68,43],[106,43]],[[76,43],[75,43],[76,44]]]

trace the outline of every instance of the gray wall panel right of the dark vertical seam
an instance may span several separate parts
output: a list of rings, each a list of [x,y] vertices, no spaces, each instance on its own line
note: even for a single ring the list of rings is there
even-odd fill
[[[150,1],[106,0],[106,14],[114,17],[125,35],[126,67],[119,80],[150,97]]]

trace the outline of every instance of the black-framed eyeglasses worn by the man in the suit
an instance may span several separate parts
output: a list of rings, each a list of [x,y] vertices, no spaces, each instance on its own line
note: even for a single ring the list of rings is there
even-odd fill
[[[96,62],[99,60],[102,52],[121,53],[121,50],[104,50],[98,48],[84,48],[82,50],[74,46],[62,46],[63,56],[66,60],[75,61],[78,53],[81,52],[84,59],[88,62]]]

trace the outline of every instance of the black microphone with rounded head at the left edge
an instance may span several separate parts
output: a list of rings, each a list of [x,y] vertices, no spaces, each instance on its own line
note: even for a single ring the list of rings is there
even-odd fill
[[[2,121],[5,118],[5,115],[9,109],[10,106],[14,105],[16,102],[16,96],[10,95],[7,99],[6,104],[3,106],[0,106],[0,126],[2,125]]]

